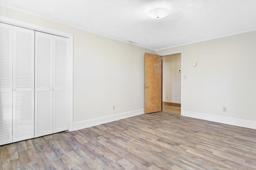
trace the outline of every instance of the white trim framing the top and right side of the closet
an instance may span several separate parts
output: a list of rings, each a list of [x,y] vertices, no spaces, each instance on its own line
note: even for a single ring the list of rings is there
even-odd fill
[[[0,16],[0,22],[68,38],[68,131],[73,126],[73,34]]]

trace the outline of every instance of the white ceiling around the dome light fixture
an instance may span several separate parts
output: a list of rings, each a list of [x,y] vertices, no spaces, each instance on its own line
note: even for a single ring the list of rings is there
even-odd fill
[[[159,50],[256,29],[256,0],[0,0],[0,5]],[[147,12],[167,8],[152,19]]]

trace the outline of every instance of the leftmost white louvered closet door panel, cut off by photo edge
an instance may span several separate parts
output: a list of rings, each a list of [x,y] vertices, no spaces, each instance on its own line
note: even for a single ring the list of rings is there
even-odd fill
[[[0,23],[0,145],[12,143],[12,25]]]

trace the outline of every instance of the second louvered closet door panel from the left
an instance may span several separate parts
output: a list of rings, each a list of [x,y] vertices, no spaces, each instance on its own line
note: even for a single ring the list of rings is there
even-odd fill
[[[13,142],[34,137],[34,30],[13,26]]]

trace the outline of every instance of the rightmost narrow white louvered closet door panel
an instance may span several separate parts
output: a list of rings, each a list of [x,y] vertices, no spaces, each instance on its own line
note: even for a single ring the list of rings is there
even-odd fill
[[[68,130],[68,39],[54,35],[53,133]]]

